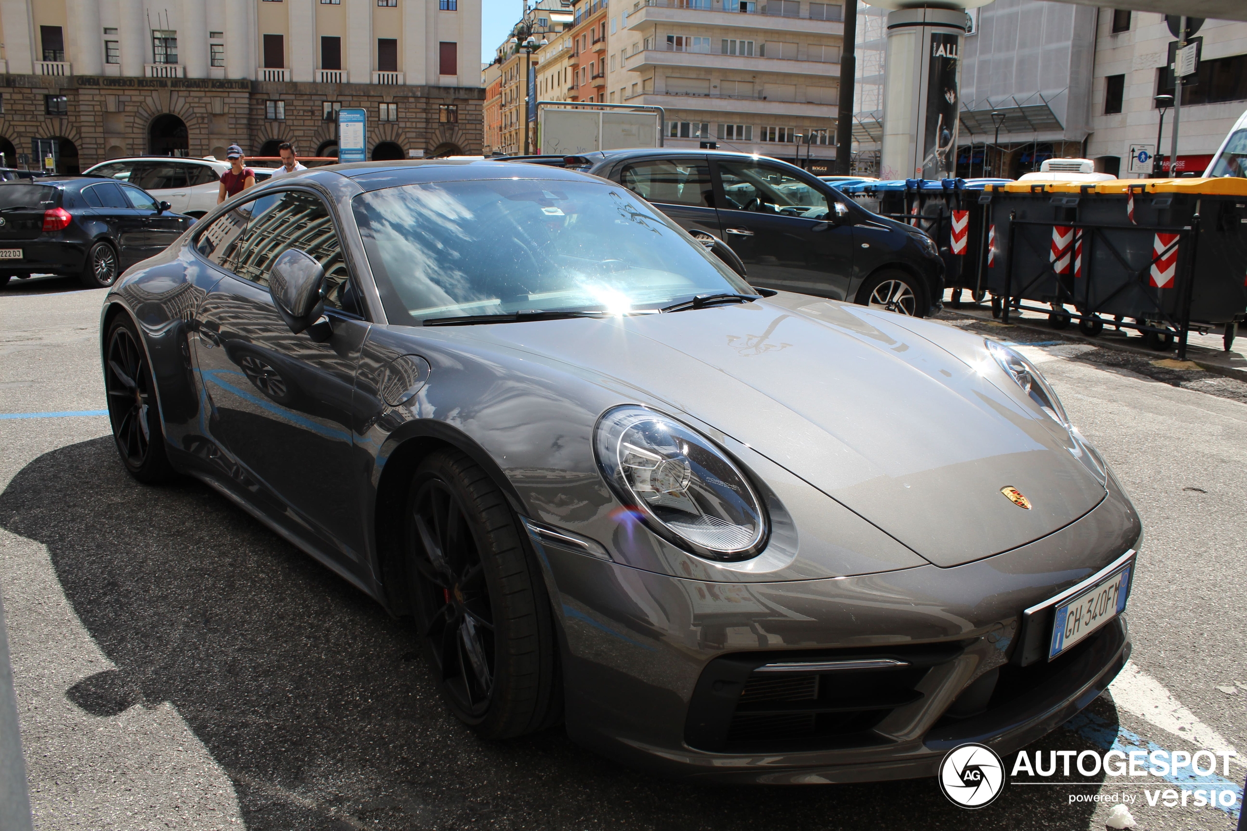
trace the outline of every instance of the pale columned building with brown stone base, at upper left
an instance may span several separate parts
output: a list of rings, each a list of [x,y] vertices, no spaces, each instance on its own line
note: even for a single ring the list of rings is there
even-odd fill
[[[480,152],[480,0],[4,0],[0,41],[10,164],[335,154],[342,107],[373,158]]]

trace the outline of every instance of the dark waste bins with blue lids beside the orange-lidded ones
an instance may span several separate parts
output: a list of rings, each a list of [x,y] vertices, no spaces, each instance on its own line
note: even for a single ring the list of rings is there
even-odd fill
[[[1011,179],[893,179],[843,187],[862,207],[925,230],[944,260],[944,285],[959,303],[961,289],[975,302],[986,294],[981,275],[988,257],[984,188]]]

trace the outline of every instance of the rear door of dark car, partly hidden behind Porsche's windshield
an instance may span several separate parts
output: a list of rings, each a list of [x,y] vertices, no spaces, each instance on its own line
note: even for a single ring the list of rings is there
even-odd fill
[[[620,183],[652,203],[693,237],[723,238],[715,186],[705,157],[651,158],[620,168]]]

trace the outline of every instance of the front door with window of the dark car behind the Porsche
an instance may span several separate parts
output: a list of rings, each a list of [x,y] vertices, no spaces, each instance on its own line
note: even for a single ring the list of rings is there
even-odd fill
[[[761,161],[716,167],[723,239],[744,262],[749,283],[847,299],[853,226],[837,221],[823,189]]]

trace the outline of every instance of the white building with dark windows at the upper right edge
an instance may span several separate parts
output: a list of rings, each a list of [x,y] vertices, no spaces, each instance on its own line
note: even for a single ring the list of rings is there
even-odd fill
[[[1201,60],[1183,78],[1177,172],[1202,172],[1235,121],[1247,110],[1247,24],[1206,20],[1196,31]],[[1176,39],[1153,12],[1101,9],[1091,80],[1091,137],[1087,156],[1120,177],[1130,173],[1131,145],[1156,145],[1156,96],[1173,95],[1167,69]],[[1170,154],[1173,111],[1165,117],[1160,151]],[[1166,161],[1167,167],[1167,161]]]

